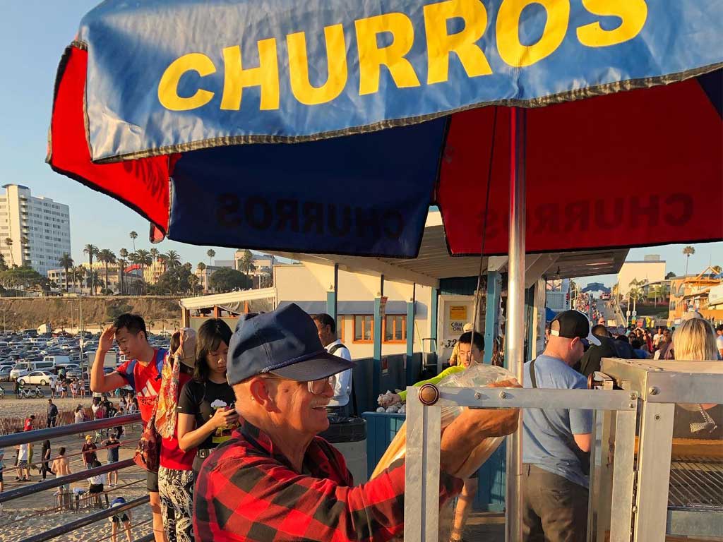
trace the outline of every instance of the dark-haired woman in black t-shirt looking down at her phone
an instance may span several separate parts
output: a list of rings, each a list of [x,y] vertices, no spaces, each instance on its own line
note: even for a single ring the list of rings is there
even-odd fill
[[[220,318],[198,330],[194,378],[181,390],[178,439],[181,449],[197,448],[193,470],[198,473],[210,452],[239,425],[234,390],[226,381],[226,356],[231,328]]]

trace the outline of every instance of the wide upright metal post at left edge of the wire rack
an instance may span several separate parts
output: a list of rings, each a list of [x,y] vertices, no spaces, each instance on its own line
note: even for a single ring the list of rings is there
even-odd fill
[[[674,412],[673,403],[643,401],[633,542],[665,540]]]

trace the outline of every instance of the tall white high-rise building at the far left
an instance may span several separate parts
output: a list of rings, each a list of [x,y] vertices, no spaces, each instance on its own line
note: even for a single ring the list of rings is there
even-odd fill
[[[56,269],[70,254],[69,207],[46,197],[35,197],[21,184],[6,184],[0,196],[0,254],[5,263],[30,265],[40,275]],[[7,239],[12,244],[7,243]]]

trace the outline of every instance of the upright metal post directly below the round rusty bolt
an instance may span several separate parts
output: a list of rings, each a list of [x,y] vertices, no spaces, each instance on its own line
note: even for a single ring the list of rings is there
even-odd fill
[[[404,541],[437,542],[440,528],[442,409],[424,406],[419,388],[407,388]]]

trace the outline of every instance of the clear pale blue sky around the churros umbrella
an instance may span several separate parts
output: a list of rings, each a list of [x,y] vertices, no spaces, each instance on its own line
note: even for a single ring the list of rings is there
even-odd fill
[[[82,247],[92,243],[101,249],[131,249],[128,233],[137,231],[137,248],[150,248],[148,223],[114,199],[93,192],[76,181],[51,171],[45,163],[48,122],[56,69],[63,49],[72,41],[85,12],[98,4],[93,0],[23,0],[2,2],[0,17],[0,185],[30,186],[35,195],[51,197],[70,206],[72,257],[85,259]],[[690,271],[712,262],[723,265],[723,243],[696,244]],[[161,251],[174,249],[190,262],[208,261],[209,247],[163,241]],[[231,249],[214,248],[217,259],[231,259]],[[633,249],[629,259],[660,254],[667,270],[683,273],[682,245]],[[614,276],[602,280],[611,285]]]

